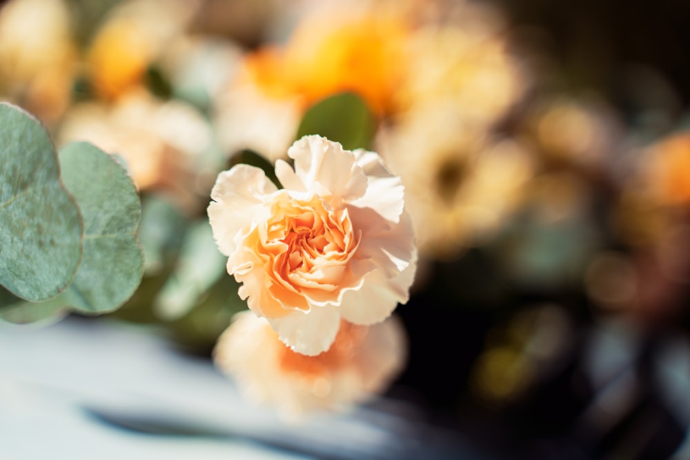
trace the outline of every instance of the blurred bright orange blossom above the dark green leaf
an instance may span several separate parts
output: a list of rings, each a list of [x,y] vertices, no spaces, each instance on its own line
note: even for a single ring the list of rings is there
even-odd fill
[[[351,91],[377,113],[391,110],[402,77],[406,21],[386,3],[368,8],[331,5],[308,14],[290,36],[284,50],[285,78],[307,104]]]

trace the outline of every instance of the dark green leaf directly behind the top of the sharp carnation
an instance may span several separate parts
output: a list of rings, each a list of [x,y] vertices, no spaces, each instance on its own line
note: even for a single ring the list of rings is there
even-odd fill
[[[368,148],[376,121],[366,103],[351,92],[328,97],[309,108],[297,130],[297,139],[320,134],[343,148]]]

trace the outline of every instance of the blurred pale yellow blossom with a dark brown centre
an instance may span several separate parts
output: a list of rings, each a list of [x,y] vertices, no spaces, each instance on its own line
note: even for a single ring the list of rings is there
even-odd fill
[[[518,143],[491,139],[455,106],[409,112],[379,143],[429,257],[453,257],[488,237],[520,202],[533,169]]]

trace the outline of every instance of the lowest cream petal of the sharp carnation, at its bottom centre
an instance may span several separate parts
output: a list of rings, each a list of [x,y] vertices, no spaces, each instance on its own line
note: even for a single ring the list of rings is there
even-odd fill
[[[295,311],[282,318],[266,319],[283,343],[308,356],[331,348],[340,328],[340,314],[331,306],[313,307],[309,312]]]

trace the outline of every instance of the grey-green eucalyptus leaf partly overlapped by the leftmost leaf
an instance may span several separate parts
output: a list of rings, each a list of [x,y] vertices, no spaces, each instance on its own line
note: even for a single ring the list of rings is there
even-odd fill
[[[136,236],[139,195],[123,166],[90,143],[63,148],[60,165],[84,223],[81,265],[63,301],[83,312],[115,310],[132,296],[144,273]]]

